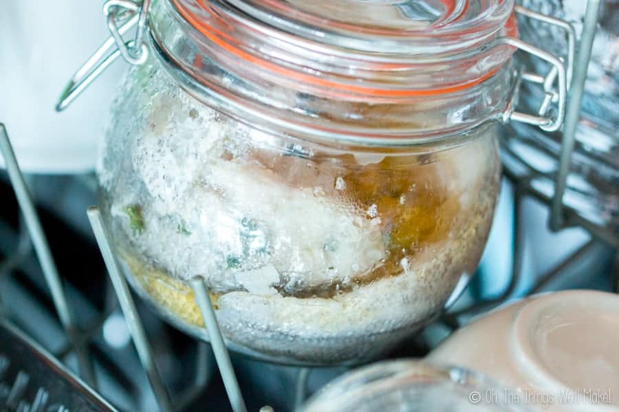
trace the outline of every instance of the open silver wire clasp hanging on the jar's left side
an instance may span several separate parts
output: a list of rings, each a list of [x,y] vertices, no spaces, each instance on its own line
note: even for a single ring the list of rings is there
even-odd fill
[[[80,95],[107,67],[119,56],[131,65],[141,65],[148,57],[148,47],[144,43],[146,19],[151,0],[142,4],[131,0],[108,0],[103,5],[107,17],[107,27],[111,36],[76,71],[56,103],[56,111],[63,111]],[[122,36],[137,23],[135,38],[125,41]],[[116,45],[116,49],[113,47]]]

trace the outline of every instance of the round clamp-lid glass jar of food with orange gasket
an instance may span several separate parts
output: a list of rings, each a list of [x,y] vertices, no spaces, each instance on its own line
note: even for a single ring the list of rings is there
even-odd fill
[[[98,166],[133,286],[208,339],[188,286],[204,277],[230,347],[272,361],[359,361],[419,330],[490,229],[513,13],[154,1]]]

